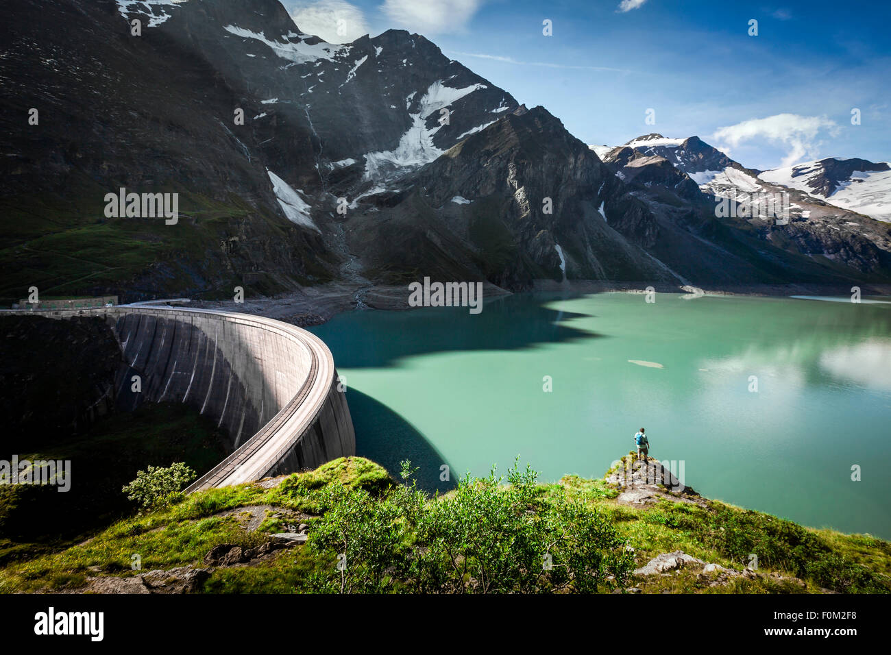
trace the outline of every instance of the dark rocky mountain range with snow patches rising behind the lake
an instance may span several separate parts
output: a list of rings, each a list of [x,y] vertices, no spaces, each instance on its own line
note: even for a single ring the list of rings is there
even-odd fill
[[[4,12],[4,91],[18,106],[51,107],[53,120],[23,131],[0,115],[0,209],[20,225],[8,252],[28,244],[0,293],[34,280],[124,296],[428,274],[519,290],[545,278],[745,283],[891,270],[887,252],[848,237],[854,228],[842,239],[793,225],[800,237],[783,250],[762,225],[719,221],[697,184],[716,172],[761,183],[698,137],[650,133],[592,151],[543,107],[405,30],[329,44],[278,0],[5,0]],[[142,37],[130,36],[130,17],[143,20]],[[98,97],[101,112],[84,101]],[[176,227],[106,219],[102,199],[120,187],[176,191],[183,217]],[[76,263],[60,267],[60,249]],[[811,258],[823,252],[831,266]]]

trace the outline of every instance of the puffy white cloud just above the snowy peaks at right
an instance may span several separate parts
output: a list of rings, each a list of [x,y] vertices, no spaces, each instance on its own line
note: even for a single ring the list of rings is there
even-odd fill
[[[723,142],[719,147],[722,151],[759,138],[781,143],[786,148],[781,166],[792,166],[805,158],[816,159],[820,146],[817,137],[823,130],[830,135],[837,135],[839,127],[825,116],[776,114],[766,119],[750,119],[736,125],[718,127],[712,138]]]

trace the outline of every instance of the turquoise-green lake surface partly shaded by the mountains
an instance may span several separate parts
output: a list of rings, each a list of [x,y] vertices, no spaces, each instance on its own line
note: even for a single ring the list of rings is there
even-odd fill
[[[891,304],[516,294],[313,332],[346,377],[357,454],[410,459],[429,489],[518,454],[543,480],[599,478],[645,427],[702,495],[891,538]]]

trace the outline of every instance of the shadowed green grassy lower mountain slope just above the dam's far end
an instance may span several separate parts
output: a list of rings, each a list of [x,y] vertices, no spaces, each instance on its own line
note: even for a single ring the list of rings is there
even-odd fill
[[[106,218],[104,194],[92,181],[82,181],[78,195],[61,198],[18,196],[0,200],[0,299],[6,304],[27,296],[31,286],[41,295],[93,295],[98,291],[134,288],[145,276],[159,293],[191,290],[205,297],[229,298],[235,285],[246,291],[276,293],[285,287],[271,276],[245,282],[233,276],[223,241],[242,234],[272,242],[288,242],[288,225],[264,207],[253,207],[230,195],[217,201],[173,185],[130,189],[136,192],[177,192],[179,220]],[[307,278],[329,279],[321,266],[307,260]]]

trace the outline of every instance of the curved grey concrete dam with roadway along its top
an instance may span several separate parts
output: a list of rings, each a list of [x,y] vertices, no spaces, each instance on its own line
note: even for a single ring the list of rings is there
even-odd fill
[[[263,316],[158,306],[15,313],[102,317],[123,357],[114,382],[119,408],[185,403],[228,431],[232,454],[187,493],[356,454],[346,393],[338,390],[331,351],[294,325]]]

